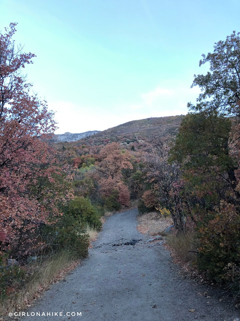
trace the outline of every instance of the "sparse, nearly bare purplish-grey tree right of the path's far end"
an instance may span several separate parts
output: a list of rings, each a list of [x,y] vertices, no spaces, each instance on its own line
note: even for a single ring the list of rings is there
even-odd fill
[[[178,164],[168,163],[170,137],[157,137],[144,154],[146,181],[150,184],[151,192],[143,194],[147,207],[166,209],[170,212],[174,225],[180,230],[184,228],[182,213],[183,182]],[[155,204],[153,195],[155,195]],[[147,205],[148,204],[148,205]]]

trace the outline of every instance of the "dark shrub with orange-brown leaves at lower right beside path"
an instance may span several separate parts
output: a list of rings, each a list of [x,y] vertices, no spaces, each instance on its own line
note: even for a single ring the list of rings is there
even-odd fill
[[[239,287],[237,273],[228,273],[240,263],[240,217],[234,205],[221,201],[219,209],[208,212],[198,226],[200,241],[197,264],[200,270],[217,283],[231,283]]]

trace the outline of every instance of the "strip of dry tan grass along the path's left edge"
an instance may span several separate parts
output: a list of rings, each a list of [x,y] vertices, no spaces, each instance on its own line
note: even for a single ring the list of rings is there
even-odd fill
[[[50,283],[56,283],[64,278],[65,274],[74,269],[79,260],[73,260],[68,252],[64,251],[49,257],[44,262],[29,264],[26,270],[34,271],[25,280],[24,288],[13,298],[0,302],[0,320],[6,319],[8,312],[24,310],[33,305],[35,299],[41,296]]]

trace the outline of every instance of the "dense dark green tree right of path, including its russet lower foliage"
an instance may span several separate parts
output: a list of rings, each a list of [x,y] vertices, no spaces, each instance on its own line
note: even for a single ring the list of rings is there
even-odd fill
[[[230,120],[216,111],[189,113],[182,120],[169,160],[181,164],[191,210],[196,204],[212,210],[221,199],[239,201],[230,130]]]

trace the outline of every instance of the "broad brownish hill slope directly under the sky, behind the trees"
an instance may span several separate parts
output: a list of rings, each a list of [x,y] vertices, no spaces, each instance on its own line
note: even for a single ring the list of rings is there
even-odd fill
[[[184,116],[152,117],[128,121],[124,124],[100,131],[90,137],[84,137],[73,144],[80,146],[101,145],[116,141],[120,144],[150,141],[155,135],[175,135]]]

